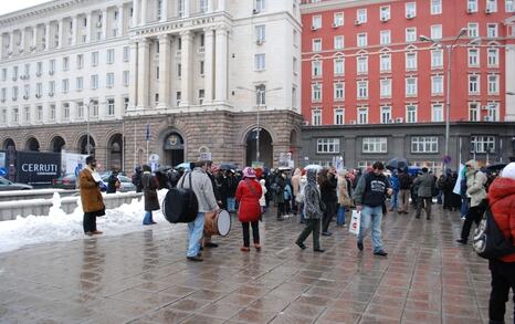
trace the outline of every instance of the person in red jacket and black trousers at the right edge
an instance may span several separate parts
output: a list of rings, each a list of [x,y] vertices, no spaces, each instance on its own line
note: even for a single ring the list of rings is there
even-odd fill
[[[506,240],[515,245],[515,163],[508,164],[488,188],[488,203],[492,216]],[[515,294],[515,253],[488,260],[492,275],[490,293],[490,323],[504,323],[509,289]],[[515,314],[515,296],[513,299]]]

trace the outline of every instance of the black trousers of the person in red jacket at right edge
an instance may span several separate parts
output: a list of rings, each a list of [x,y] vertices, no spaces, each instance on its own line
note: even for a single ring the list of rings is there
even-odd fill
[[[504,323],[506,302],[509,289],[515,293],[515,262],[506,263],[498,260],[490,260],[492,274],[492,291],[490,293],[488,317],[491,324]],[[513,297],[515,317],[515,295]]]

